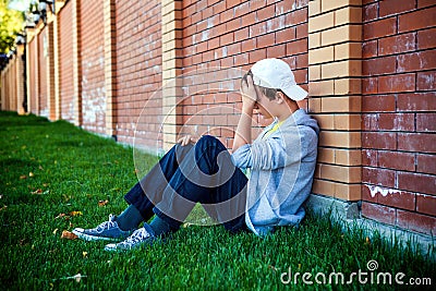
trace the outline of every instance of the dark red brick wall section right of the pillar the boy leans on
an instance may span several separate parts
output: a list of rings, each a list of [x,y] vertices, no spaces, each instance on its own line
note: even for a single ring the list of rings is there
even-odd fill
[[[436,232],[436,5],[363,1],[365,217]]]

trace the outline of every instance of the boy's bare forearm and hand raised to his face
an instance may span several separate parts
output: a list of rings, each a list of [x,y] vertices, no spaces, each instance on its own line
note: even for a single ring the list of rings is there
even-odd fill
[[[256,89],[254,88],[252,76],[247,76],[246,83],[241,84],[242,95],[242,113],[238,122],[237,132],[234,134],[233,148],[234,153],[243,145],[252,143],[252,118],[254,106],[257,100]]]

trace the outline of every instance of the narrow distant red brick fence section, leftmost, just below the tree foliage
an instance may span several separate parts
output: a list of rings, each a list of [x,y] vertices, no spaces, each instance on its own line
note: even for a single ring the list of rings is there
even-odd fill
[[[29,75],[29,83],[27,84],[29,90],[29,95],[27,97],[28,101],[28,111],[37,114],[38,112],[36,112],[36,108],[37,108],[37,96],[38,96],[38,92],[37,92],[37,84],[38,84],[38,78],[37,78],[37,64],[38,64],[38,59],[36,56],[36,50],[37,50],[37,46],[38,46],[38,39],[35,37],[33,38],[33,40],[28,44],[28,51],[27,51],[27,57],[28,57],[28,62],[29,62],[29,70],[27,72],[27,74]]]

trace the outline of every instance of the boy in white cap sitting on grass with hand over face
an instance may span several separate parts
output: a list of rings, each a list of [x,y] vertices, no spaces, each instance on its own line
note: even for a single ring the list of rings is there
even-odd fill
[[[275,227],[298,225],[317,153],[317,123],[296,104],[307,93],[286,62],[265,59],[242,78],[241,94],[232,154],[213,136],[195,144],[185,136],[129,191],[130,206],[121,215],[73,232],[88,241],[121,241],[107,251],[131,250],[177,231],[196,203],[233,233],[265,235]],[[252,143],[254,111],[271,123]]]

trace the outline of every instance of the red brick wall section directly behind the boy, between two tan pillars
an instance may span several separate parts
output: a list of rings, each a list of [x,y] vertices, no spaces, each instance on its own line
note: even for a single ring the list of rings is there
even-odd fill
[[[220,136],[231,147],[239,120],[240,77],[261,59],[283,59],[296,82],[307,88],[307,3],[183,1],[183,69],[192,75],[184,84],[183,131]]]

